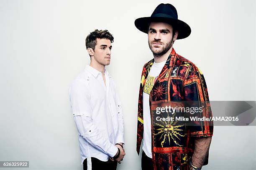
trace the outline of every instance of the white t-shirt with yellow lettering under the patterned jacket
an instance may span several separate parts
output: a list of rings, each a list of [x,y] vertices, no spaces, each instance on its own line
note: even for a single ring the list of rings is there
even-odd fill
[[[156,63],[152,65],[146,83],[143,88],[143,145],[142,149],[149,158],[152,158],[151,151],[151,117],[150,117],[150,108],[149,108],[149,94],[153,88],[154,83],[156,82],[157,77],[159,76],[161,70],[164,67],[166,60],[163,62]]]

